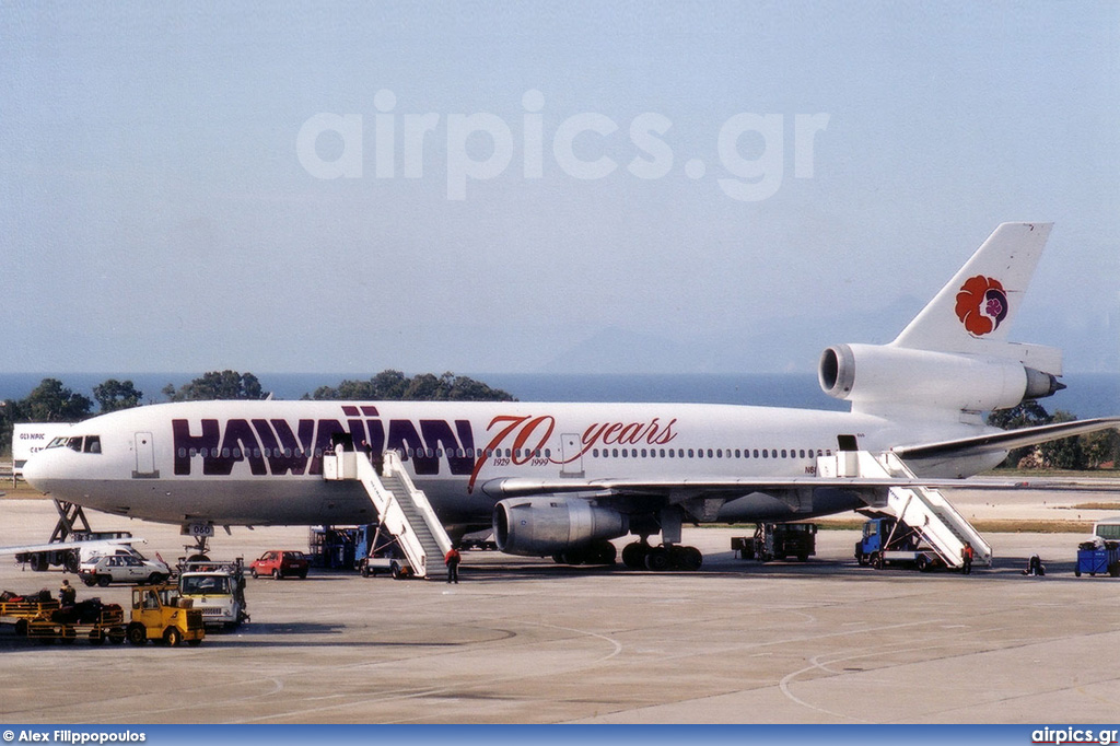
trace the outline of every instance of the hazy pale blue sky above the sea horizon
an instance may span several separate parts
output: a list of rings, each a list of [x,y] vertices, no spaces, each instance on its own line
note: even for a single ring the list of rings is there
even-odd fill
[[[1011,220],[1056,223],[1012,335],[1120,370],[1116,3],[4,2],[0,28],[0,371],[809,371]],[[361,132],[300,150],[321,115]]]

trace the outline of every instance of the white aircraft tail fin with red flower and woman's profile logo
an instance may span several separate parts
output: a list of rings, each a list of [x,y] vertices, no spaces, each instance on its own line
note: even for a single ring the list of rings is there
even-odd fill
[[[1016,357],[1024,363],[1029,357],[1033,366],[1061,374],[1058,351],[1007,342],[1052,226],[1052,223],[1001,224],[892,345]],[[1049,370],[1055,365],[1058,370]]]

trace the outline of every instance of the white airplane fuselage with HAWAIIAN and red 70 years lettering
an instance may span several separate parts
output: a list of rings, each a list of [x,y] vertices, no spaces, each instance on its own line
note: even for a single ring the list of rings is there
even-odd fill
[[[775,479],[815,474],[839,436],[861,449],[987,430],[951,419],[896,421],[850,412],[720,404],[209,401],[155,404],[75,426],[37,454],[37,488],[87,507],[169,523],[355,524],[376,520],[357,483],[326,482],[323,454],[345,447],[402,455],[447,525],[488,525],[503,479]],[[68,446],[68,447],[67,447]],[[973,474],[987,457],[927,476]],[[862,504],[821,497],[810,516]],[[753,493],[719,521],[794,517]]]

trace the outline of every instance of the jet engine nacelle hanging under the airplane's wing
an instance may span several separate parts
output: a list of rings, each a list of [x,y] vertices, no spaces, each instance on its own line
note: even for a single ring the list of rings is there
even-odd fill
[[[626,515],[576,497],[512,497],[494,506],[494,540],[510,554],[545,557],[627,533]]]

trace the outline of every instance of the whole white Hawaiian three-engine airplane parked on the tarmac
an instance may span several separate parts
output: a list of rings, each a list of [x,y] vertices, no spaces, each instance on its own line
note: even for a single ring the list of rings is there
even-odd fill
[[[661,534],[680,567],[682,522],[782,521],[866,506],[913,484],[816,474],[819,456],[893,451],[923,481],[958,479],[1010,448],[1120,418],[1016,431],[982,413],[1064,388],[1054,348],[1008,342],[1051,225],[1005,223],[886,345],[824,351],[821,386],[850,412],[721,404],[198,401],[77,423],[25,477],[58,500],[183,525],[361,524],[356,482],[326,482],[339,441],[395,449],[452,537],[493,525],[498,547],[613,561],[610,539]],[[931,482],[932,483],[932,482]],[[923,482],[925,484],[925,482]],[[624,552],[626,559],[626,552]]]

